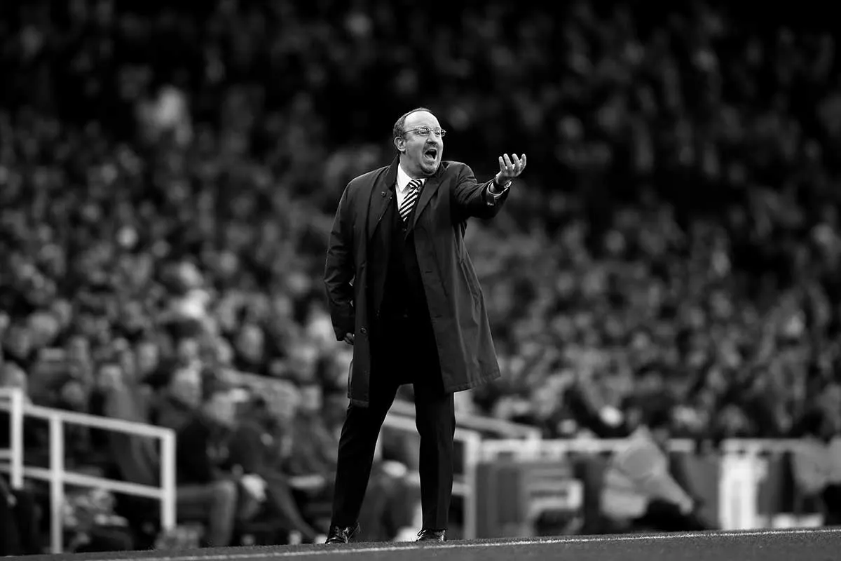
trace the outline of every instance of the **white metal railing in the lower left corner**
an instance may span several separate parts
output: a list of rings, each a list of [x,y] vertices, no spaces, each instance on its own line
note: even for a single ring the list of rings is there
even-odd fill
[[[23,391],[16,388],[0,388],[0,410],[8,411],[11,417],[9,440],[11,447],[8,450],[0,450],[0,460],[8,460],[8,462],[0,463],[0,470],[10,473],[14,489],[20,489],[23,486],[24,478],[40,479],[50,483],[50,549],[52,553],[61,553],[62,550],[65,484],[159,500],[161,527],[165,530],[175,527],[175,432],[172,429],[32,405],[26,402]],[[24,465],[24,417],[45,419],[49,422],[49,468]],[[64,450],[65,424],[159,439],[161,441],[161,486],[153,487],[67,471]]]

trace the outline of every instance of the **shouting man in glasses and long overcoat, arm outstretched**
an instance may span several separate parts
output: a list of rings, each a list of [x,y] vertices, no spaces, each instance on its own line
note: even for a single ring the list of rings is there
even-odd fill
[[[401,384],[414,386],[421,437],[419,541],[445,541],[452,394],[500,376],[463,238],[469,218],[500,211],[526,156],[500,156],[500,172],[478,183],[467,165],[442,161],[445,134],[426,108],[402,115],[393,130],[398,155],[348,183],[333,221],[325,288],[336,337],[353,346],[353,361],[328,543],[358,530],[379,430]]]

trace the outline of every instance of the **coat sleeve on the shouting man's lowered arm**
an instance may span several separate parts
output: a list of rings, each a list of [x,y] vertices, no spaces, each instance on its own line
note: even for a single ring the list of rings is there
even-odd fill
[[[353,333],[353,225],[350,202],[350,185],[341,194],[339,208],[333,219],[330,239],[327,241],[327,259],[324,285],[336,339],[341,341],[346,333]]]

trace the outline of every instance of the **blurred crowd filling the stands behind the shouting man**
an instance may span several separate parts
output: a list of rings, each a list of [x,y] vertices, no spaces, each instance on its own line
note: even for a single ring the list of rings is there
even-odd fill
[[[3,3],[0,380],[193,411],[201,380],[253,374],[332,449],[351,350],[326,233],[423,105],[478,177],[534,162],[468,227],[504,375],[460,410],[547,437],[615,434],[631,400],[674,400],[693,437],[841,415],[838,36],[644,4]]]

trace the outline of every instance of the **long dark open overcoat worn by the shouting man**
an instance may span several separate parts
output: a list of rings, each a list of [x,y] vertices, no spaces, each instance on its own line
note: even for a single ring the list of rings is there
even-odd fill
[[[368,331],[378,303],[368,302],[369,288],[385,281],[369,274],[369,244],[395,196],[398,165],[395,158],[390,166],[347,184],[328,241],[324,279],[333,329],[339,340],[346,333],[355,336],[348,379],[348,397],[354,405],[367,406],[370,390]],[[491,197],[490,183],[478,183],[463,163],[442,161],[426,180],[411,218],[447,392],[472,389],[500,377],[484,295],[463,241],[470,217],[492,218],[505,203],[508,192]],[[382,258],[388,258],[388,253]]]

